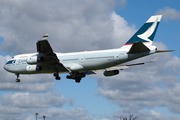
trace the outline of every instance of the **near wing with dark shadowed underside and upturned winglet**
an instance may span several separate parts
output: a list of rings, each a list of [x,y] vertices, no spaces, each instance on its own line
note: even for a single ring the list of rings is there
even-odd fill
[[[59,62],[57,55],[53,52],[49,42],[47,41],[49,34],[45,34],[41,40],[36,43],[38,56],[43,58],[43,62],[46,65],[54,66],[55,70],[67,71],[70,72],[62,63]]]

